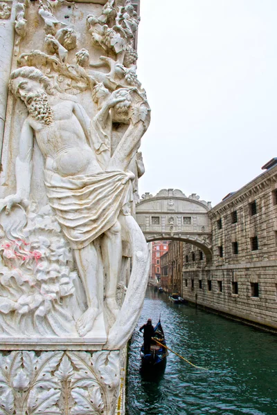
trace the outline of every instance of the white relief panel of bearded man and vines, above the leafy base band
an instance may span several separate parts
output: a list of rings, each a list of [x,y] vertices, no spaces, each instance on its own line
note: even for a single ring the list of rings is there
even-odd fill
[[[136,77],[139,17],[129,0],[19,2],[16,12],[1,178],[0,333],[91,342],[101,332],[103,349],[120,349],[148,279],[148,248],[132,216],[150,122]],[[132,257],[127,288],[123,246]]]

